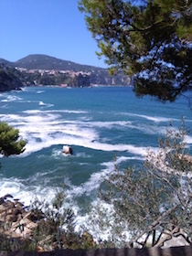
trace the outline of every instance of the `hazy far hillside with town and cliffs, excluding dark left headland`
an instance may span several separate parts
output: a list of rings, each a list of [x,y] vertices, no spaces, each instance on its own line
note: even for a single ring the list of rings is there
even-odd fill
[[[85,86],[93,84],[127,86],[131,82],[131,79],[123,74],[111,76],[107,69],[81,65],[69,60],[57,59],[42,54],[28,55],[23,59],[18,59],[16,62],[0,59],[0,63],[21,70],[21,78],[25,80],[27,85],[67,84],[72,87],[81,87],[82,84],[86,83]],[[54,70],[54,74],[52,70]],[[83,74],[83,80],[82,77],[79,77],[80,74],[78,72]],[[76,80],[73,80],[74,76]]]

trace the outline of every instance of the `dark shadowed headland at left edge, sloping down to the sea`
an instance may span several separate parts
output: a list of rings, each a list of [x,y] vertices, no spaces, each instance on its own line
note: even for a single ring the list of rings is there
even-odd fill
[[[18,90],[24,84],[17,77],[16,69],[0,65],[0,91]]]

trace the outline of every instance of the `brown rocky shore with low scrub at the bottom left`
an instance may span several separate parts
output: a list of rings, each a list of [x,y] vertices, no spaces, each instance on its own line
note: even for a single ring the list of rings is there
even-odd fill
[[[0,252],[23,250],[42,252],[96,246],[92,236],[86,231],[82,235],[69,229],[62,231],[57,225],[58,213],[53,212],[51,219],[48,219],[40,206],[26,207],[9,194],[0,197]]]

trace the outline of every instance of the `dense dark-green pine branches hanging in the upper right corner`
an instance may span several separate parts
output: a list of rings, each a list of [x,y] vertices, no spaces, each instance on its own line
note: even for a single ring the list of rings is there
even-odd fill
[[[192,89],[188,0],[81,0],[88,28],[112,71],[134,75],[134,91],[161,101]]]

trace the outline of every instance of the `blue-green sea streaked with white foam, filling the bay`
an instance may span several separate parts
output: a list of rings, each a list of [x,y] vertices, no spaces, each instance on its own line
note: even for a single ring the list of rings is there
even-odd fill
[[[142,165],[148,150],[158,149],[170,123],[185,118],[192,128],[186,97],[160,102],[137,98],[132,87],[27,87],[0,93],[0,121],[19,129],[27,140],[21,155],[1,157],[0,197],[11,194],[25,205],[36,197],[52,200],[64,189],[77,219],[100,200],[103,180],[128,166]],[[186,137],[192,147],[192,134]],[[62,153],[63,145],[73,155]]]

